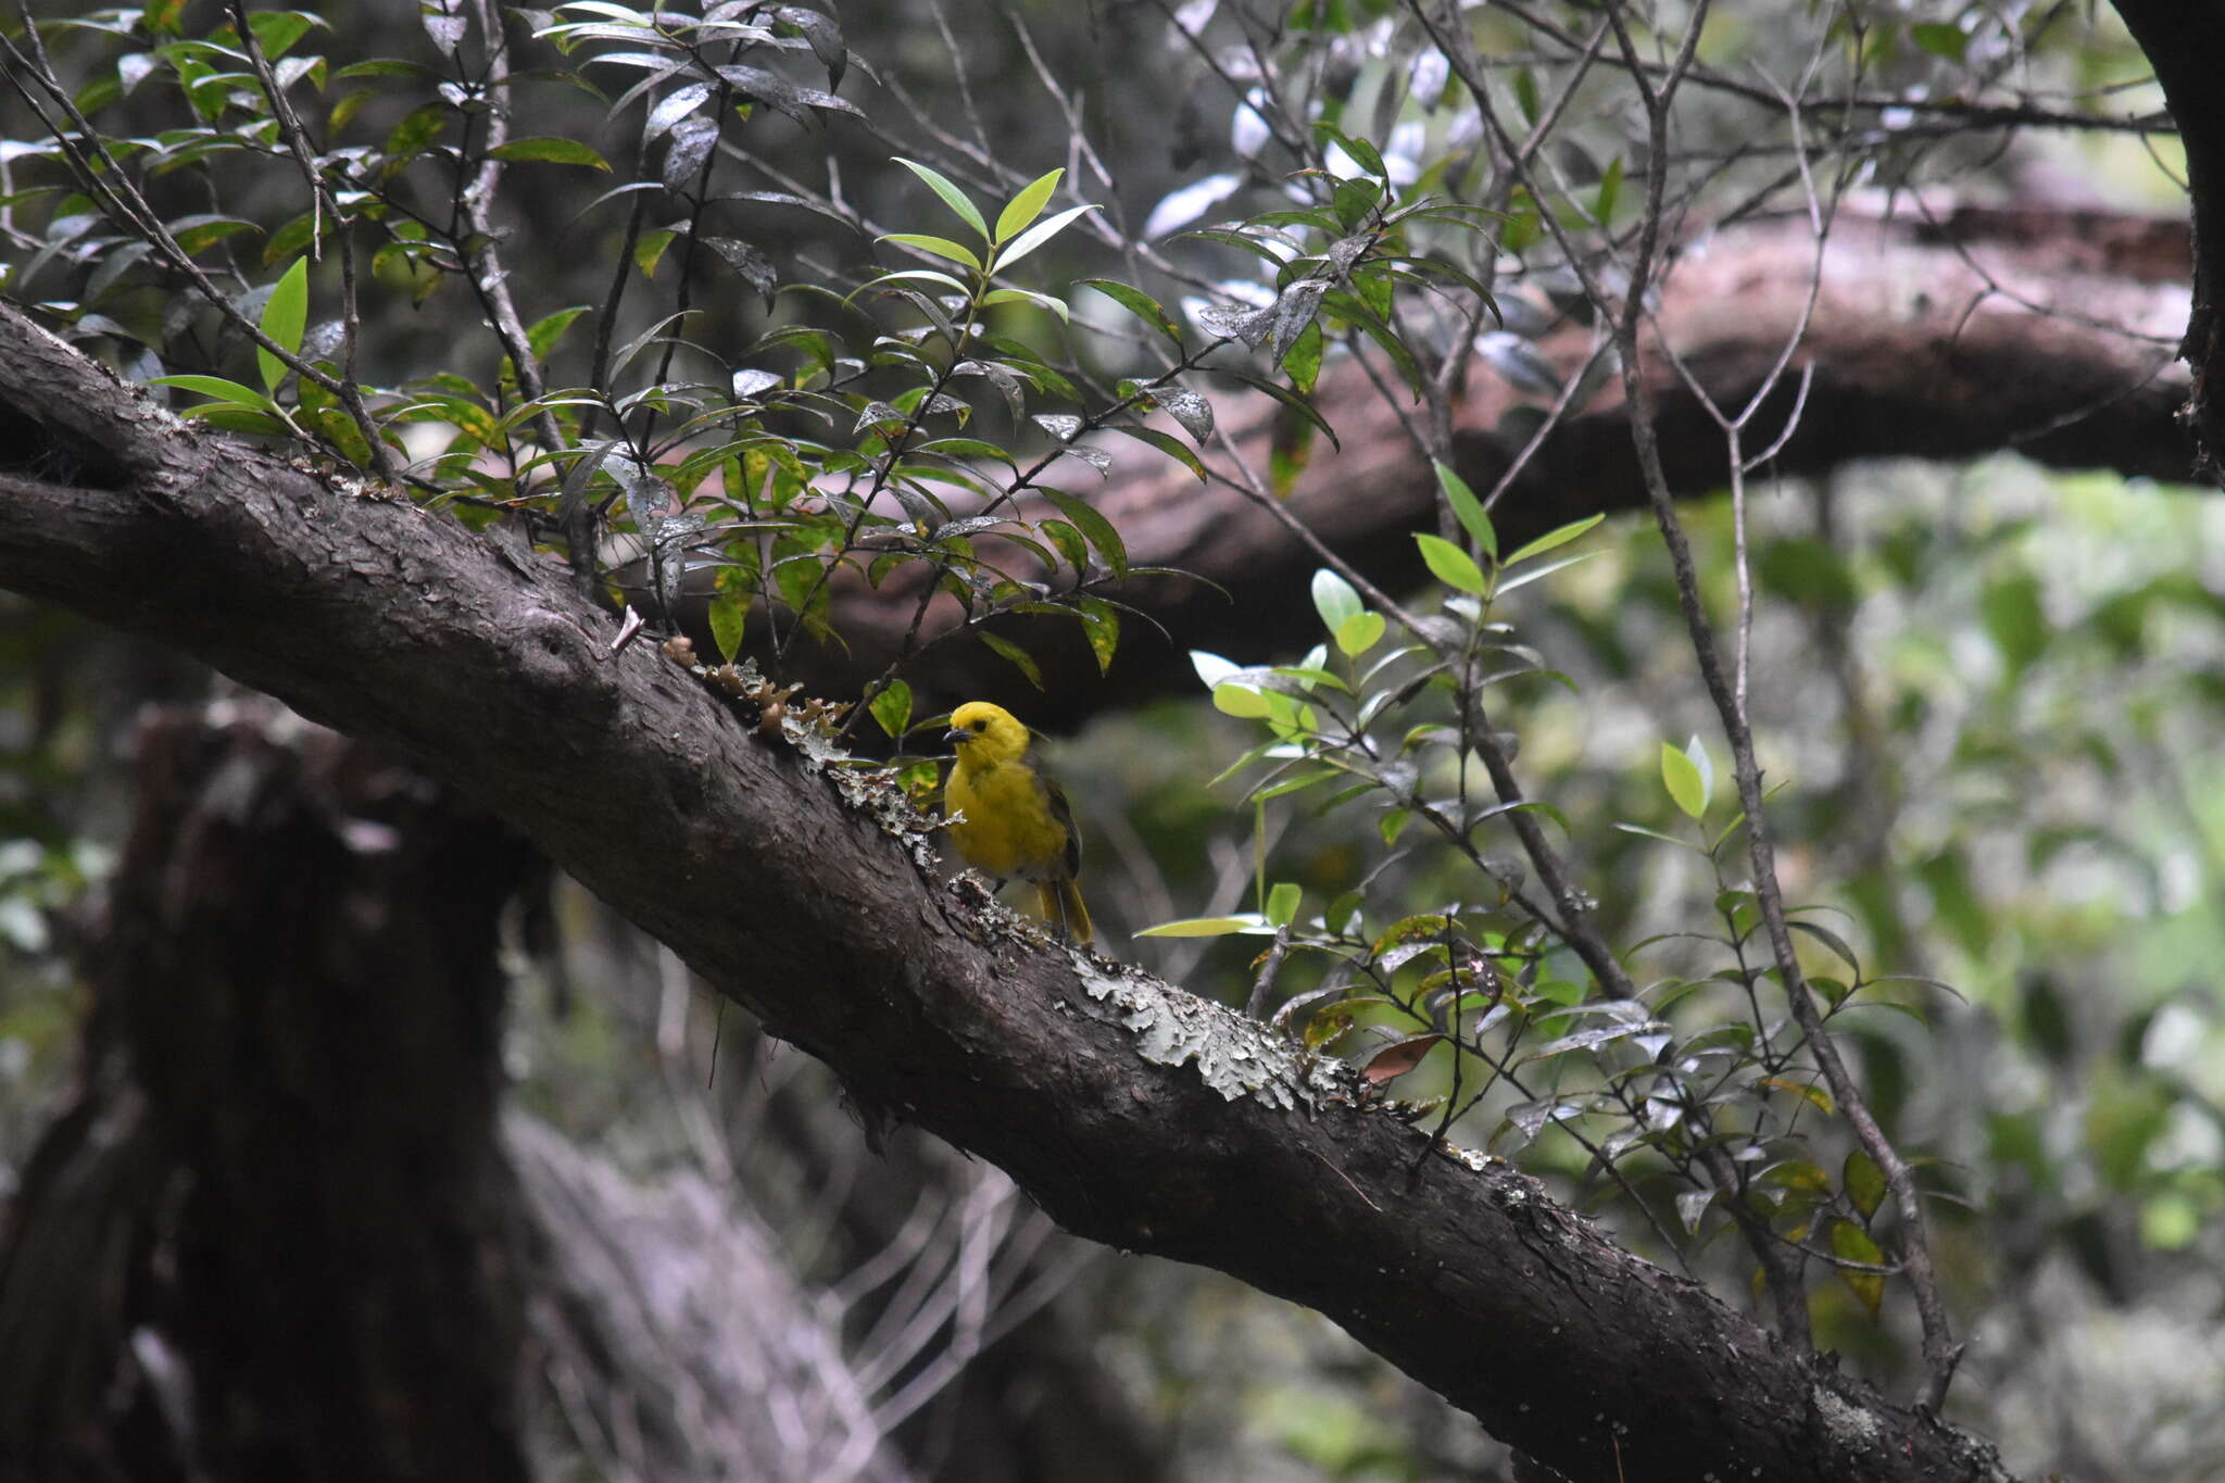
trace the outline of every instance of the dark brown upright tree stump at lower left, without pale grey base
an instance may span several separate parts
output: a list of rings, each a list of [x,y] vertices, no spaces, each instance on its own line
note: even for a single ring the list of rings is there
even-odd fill
[[[78,1096],[0,1243],[0,1476],[523,1481],[494,920],[534,852],[245,709],[138,731]]]

